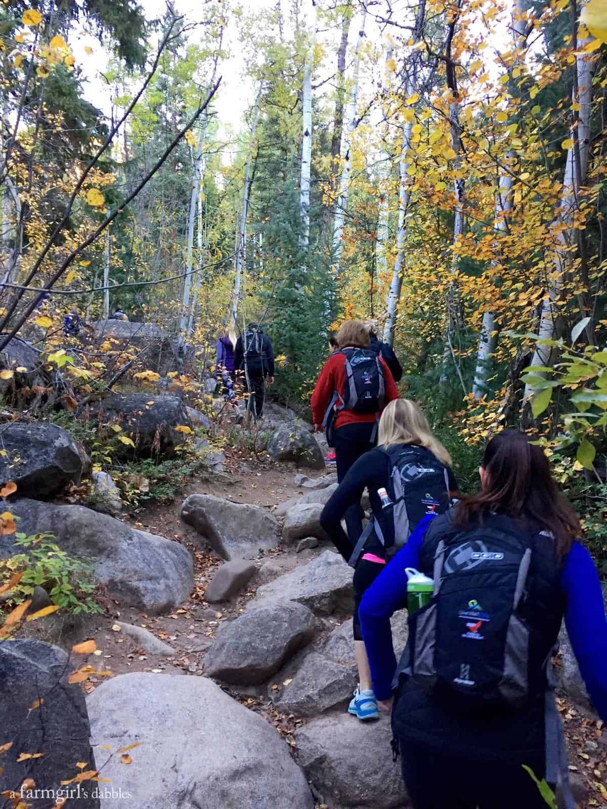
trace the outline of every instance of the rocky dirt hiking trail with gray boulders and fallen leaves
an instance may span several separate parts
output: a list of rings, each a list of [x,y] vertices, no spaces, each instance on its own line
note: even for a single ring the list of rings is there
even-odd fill
[[[281,431],[287,443],[308,432]],[[175,502],[136,519],[15,502],[24,522],[45,523],[66,544],[73,532],[100,561],[103,616],[48,616],[19,635],[31,641],[12,645],[19,676],[40,690],[74,667],[57,646],[96,642],[78,665],[104,674],[66,693],[86,697],[95,766],[123,794],[74,801],[77,809],[125,807],[126,793],[138,809],[409,806],[388,717],[363,724],[346,712],[357,680],[352,571],[319,522],[337,477],[304,468],[296,448],[281,447],[270,445],[274,457],[228,448],[210,480],[189,481]],[[397,654],[406,634],[403,612],[393,618]],[[607,734],[584,702],[567,647],[559,671],[575,798],[581,809],[607,805]],[[31,705],[31,693],[19,702],[30,697]],[[57,733],[81,727],[85,737],[83,711],[74,701],[53,720]],[[79,744],[67,743],[63,760],[86,761]],[[134,744],[126,767],[104,752]]]

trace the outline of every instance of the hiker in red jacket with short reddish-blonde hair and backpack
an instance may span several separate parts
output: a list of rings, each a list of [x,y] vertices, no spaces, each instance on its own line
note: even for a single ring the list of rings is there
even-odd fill
[[[337,343],[340,349],[320,371],[310,407],[314,429],[325,430],[329,447],[335,447],[341,483],[354,461],[375,446],[380,413],[398,398],[398,392],[388,366],[369,348],[369,332],[362,320],[346,320]],[[363,532],[360,503],[346,511],[346,526],[355,544]]]

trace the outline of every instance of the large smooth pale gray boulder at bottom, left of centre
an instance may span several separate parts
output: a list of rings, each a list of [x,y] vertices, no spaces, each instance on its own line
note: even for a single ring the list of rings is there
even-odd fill
[[[96,688],[88,709],[94,742],[142,743],[133,765],[114,756],[104,767],[108,786],[131,794],[106,799],[104,809],[314,807],[274,727],[206,677],[123,674]]]

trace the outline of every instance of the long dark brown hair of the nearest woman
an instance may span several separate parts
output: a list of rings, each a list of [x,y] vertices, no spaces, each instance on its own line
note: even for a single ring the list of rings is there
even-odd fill
[[[559,556],[565,556],[581,532],[579,519],[558,489],[541,447],[518,430],[503,430],[486,446],[482,467],[486,481],[478,494],[456,506],[456,525],[467,527],[493,511],[527,519],[554,536]]]

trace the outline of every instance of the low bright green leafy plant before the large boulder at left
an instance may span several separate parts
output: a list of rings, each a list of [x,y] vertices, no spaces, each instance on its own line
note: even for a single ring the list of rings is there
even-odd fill
[[[53,534],[15,536],[15,545],[23,548],[23,553],[0,561],[0,582],[21,574],[11,600],[19,604],[32,595],[34,587],[44,587],[53,604],[66,612],[102,612],[94,597],[97,586],[92,581],[90,561],[70,557],[53,542]]]

